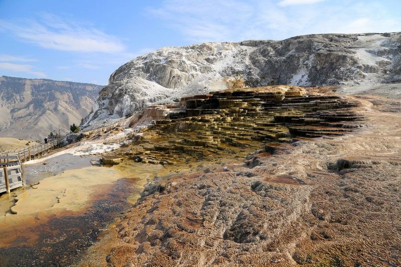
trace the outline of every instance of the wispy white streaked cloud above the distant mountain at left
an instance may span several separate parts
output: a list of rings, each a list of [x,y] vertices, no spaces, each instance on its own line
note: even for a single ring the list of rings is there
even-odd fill
[[[116,53],[125,49],[114,36],[92,26],[72,20],[62,20],[53,15],[43,15],[40,20],[17,23],[0,21],[0,29],[10,31],[24,41],[49,49],[104,53]]]

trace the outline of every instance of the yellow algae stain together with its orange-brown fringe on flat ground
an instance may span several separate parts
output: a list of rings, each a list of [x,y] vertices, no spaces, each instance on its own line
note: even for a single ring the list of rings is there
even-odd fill
[[[35,185],[37,189],[18,190],[18,196],[17,191],[2,195],[0,225],[4,227],[0,229],[0,248],[22,244],[35,246],[38,238],[41,238],[39,233],[58,236],[59,230],[60,234],[66,231],[53,225],[57,224],[58,219],[91,216],[87,214],[93,212],[92,205],[99,200],[101,202],[101,199],[113,197],[113,201],[125,200],[128,208],[129,203],[136,202],[146,182],[155,175],[165,173],[166,168],[162,165],[125,160],[113,167],[91,166],[67,170],[44,178]],[[122,183],[118,181],[121,178],[125,180]],[[117,189],[121,184],[124,184],[124,188]],[[112,192],[116,189],[121,193]],[[16,203],[14,198],[18,199]],[[10,209],[17,214],[12,214]]]

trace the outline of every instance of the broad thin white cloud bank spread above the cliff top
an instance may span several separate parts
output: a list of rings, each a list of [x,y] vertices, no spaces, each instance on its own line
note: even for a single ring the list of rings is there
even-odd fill
[[[190,43],[401,30],[399,18],[388,16],[388,8],[381,2],[164,0],[158,7],[149,7],[147,13]]]

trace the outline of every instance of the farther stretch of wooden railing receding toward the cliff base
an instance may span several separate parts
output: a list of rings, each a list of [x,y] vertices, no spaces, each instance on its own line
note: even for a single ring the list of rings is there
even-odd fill
[[[34,146],[25,147],[20,150],[10,150],[0,153],[0,156],[18,156],[21,162],[26,162],[31,159],[40,158],[41,156],[49,153],[49,150],[57,147],[60,141],[57,139],[49,141],[47,144],[39,144]]]

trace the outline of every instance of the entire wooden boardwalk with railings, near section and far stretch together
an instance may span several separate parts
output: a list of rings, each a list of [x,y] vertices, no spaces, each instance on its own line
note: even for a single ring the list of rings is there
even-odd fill
[[[12,189],[25,186],[23,162],[40,158],[49,153],[49,150],[57,148],[59,144],[60,139],[54,139],[47,144],[0,153],[0,193],[10,193]]]

